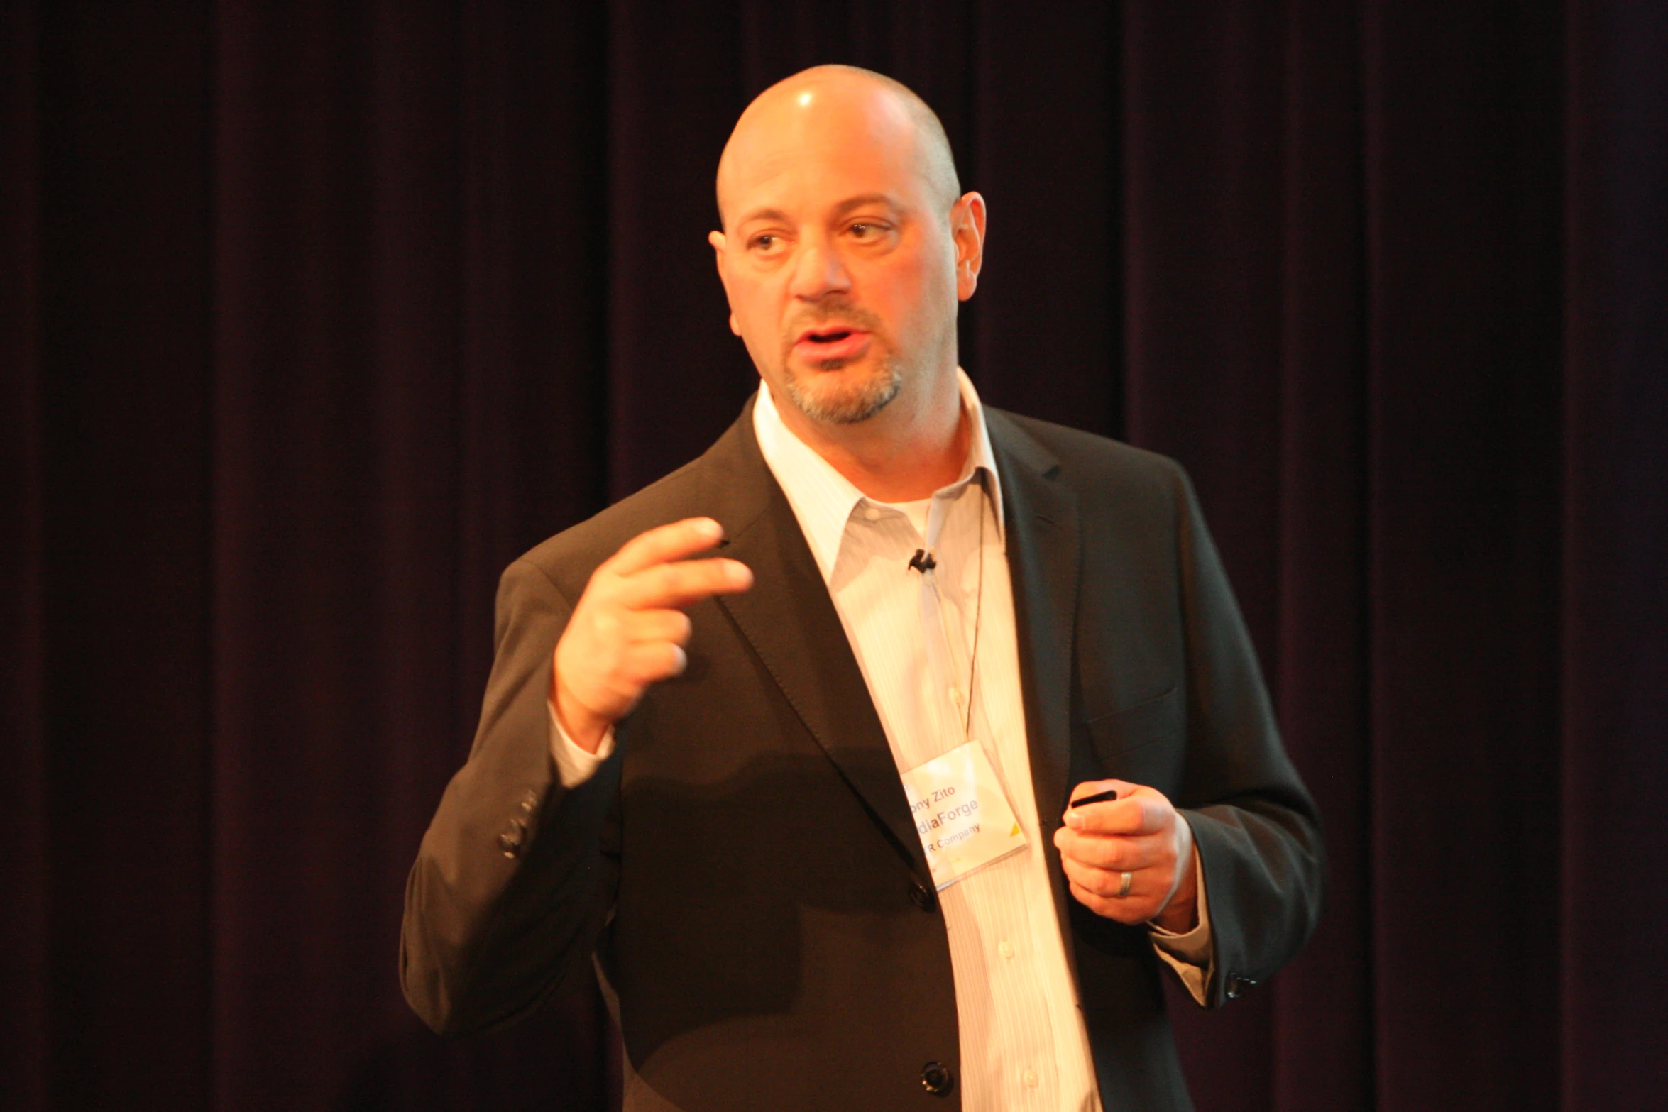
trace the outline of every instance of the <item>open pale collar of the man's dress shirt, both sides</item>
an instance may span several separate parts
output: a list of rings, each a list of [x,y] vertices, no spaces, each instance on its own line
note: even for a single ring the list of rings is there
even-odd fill
[[[962,463],[961,477],[949,487],[959,487],[984,470],[986,493],[996,507],[996,532],[1002,535],[1002,487],[996,472],[996,453],[991,452],[991,432],[984,425],[984,407],[979,393],[972,388],[972,380],[961,367],[956,368],[956,383],[961,388],[961,408],[972,418],[972,440],[967,445],[967,460]],[[834,577],[834,562],[839,559],[839,543],[846,535],[846,522],[852,512],[867,502],[856,485],[834,465],[817,455],[816,448],[801,440],[792,428],[782,422],[771,397],[771,387],[759,382],[759,400],[752,405],[752,430],[759,438],[759,452],[766,467],[776,475],[776,482],[787,495],[787,503],[799,518],[799,527],[811,543],[811,555],[822,572],[822,580]],[[949,488],[946,487],[946,490]]]

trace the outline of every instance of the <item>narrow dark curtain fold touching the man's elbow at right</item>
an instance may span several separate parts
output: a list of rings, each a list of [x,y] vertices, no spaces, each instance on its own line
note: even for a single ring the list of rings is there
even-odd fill
[[[1274,989],[1266,1107],[1373,1107],[1371,822],[1366,745],[1368,508],[1359,17],[1286,5],[1281,50],[1279,552],[1269,684],[1326,817],[1326,915]],[[1326,1062],[1324,1070],[1314,1062]]]

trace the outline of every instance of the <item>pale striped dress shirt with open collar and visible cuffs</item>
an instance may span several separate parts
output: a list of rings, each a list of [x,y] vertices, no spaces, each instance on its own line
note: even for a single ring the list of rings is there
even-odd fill
[[[1019,644],[1004,543],[1001,478],[972,382],[959,373],[972,437],[961,477],[911,503],[867,498],[799,440],[761,383],[754,432],[827,584],[899,772],[967,740],[991,757],[1026,847],[939,894],[961,1024],[961,1097],[967,1112],[1101,1107],[1088,1029],[1078,1007],[1031,785]],[[917,550],[931,574],[912,570]],[[552,754],[565,785],[612,752],[574,745],[550,709]],[[1159,955],[1203,999],[1209,920],[1154,929]]]

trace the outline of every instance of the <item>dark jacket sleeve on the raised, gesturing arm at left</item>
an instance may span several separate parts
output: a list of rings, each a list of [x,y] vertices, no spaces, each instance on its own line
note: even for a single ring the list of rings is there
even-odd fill
[[[602,832],[619,750],[574,789],[550,755],[550,660],[570,612],[539,567],[504,572],[475,742],[405,885],[400,982],[442,1034],[515,1020],[589,974],[612,902],[617,867]]]

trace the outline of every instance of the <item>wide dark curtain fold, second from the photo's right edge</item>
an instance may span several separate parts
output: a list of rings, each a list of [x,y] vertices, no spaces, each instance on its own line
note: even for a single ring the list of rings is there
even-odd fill
[[[1383,1109],[1556,1107],[1558,33],[1364,20]]]

